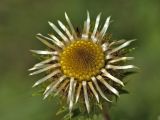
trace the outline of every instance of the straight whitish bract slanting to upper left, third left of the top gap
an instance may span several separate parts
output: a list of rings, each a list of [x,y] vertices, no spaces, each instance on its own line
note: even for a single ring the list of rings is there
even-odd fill
[[[48,23],[66,43],[69,42],[68,38],[53,23],[51,22],[48,22]]]

